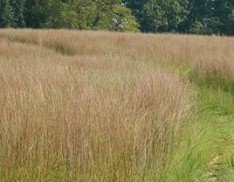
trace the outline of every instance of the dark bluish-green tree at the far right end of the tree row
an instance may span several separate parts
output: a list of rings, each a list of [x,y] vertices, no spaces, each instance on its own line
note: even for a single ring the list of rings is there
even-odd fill
[[[196,34],[227,34],[232,7],[232,0],[190,0],[186,31]]]

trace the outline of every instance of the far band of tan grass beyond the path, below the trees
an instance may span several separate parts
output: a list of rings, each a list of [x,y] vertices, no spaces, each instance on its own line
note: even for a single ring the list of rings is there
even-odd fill
[[[68,55],[124,55],[134,61],[187,65],[198,74],[219,74],[233,79],[234,38],[230,37],[67,30],[1,30],[0,36],[49,47]]]

